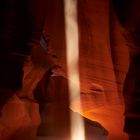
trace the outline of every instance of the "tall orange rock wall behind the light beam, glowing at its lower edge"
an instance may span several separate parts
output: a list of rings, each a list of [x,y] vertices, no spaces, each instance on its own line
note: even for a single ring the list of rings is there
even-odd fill
[[[63,3],[48,0],[45,31],[50,35],[50,48],[56,63],[65,72],[66,42]],[[110,140],[124,140],[123,82],[128,70],[128,48],[121,26],[109,1],[78,1],[79,74],[82,110],[73,101],[73,110],[98,120],[109,130]],[[115,110],[115,111],[114,111]],[[115,123],[118,125],[116,126]]]

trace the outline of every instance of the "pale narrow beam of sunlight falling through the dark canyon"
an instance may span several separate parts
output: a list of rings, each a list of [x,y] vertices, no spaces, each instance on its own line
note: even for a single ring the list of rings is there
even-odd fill
[[[64,6],[70,102],[74,98],[80,101],[77,0],[64,0]],[[71,114],[71,139],[85,140],[83,119],[75,113]]]

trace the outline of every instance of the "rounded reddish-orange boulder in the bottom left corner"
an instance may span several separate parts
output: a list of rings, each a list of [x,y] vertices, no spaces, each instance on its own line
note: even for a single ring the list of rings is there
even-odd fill
[[[34,140],[39,124],[38,104],[13,96],[2,110],[0,140]]]

